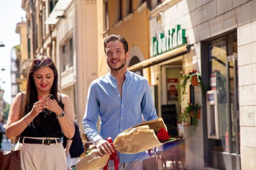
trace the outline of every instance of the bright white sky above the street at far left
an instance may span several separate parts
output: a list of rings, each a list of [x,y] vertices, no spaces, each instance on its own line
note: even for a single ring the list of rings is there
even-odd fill
[[[4,100],[11,104],[11,49],[20,44],[20,35],[15,32],[21,17],[26,20],[26,12],[21,8],[22,0],[0,0],[0,88]],[[5,71],[1,69],[5,68]],[[5,82],[5,83],[3,83]]]

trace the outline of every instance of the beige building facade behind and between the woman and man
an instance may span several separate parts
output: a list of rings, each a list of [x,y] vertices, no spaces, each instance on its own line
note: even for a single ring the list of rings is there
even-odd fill
[[[87,90],[97,78],[96,1],[22,1],[30,56],[51,56],[59,73],[59,92],[71,100],[74,119],[83,129]],[[83,131],[81,130],[81,133]]]

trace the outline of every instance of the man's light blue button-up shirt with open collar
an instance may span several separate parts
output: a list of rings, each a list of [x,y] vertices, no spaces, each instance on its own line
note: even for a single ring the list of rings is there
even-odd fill
[[[83,125],[85,134],[95,144],[98,139],[112,140],[122,131],[146,121],[157,119],[149,83],[146,78],[127,70],[122,88],[122,97],[116,77],[109,73],[94,80],[88,90]],[[101,130],[97,130],[100,116]],[[147,141],[145,141],[147,142]],[[145,152],[122,154],[117,152],[120,163],[130,162]]]

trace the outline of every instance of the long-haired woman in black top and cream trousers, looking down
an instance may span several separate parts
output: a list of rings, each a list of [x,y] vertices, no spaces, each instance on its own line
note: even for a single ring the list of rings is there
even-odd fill
[[[30,67],[26,92],[18,93],[11,104],[6,135],[11,139],[21,134],[22,170],[67,169],[60,138],[72,138],[75,127],[70,99],[59,94],[57,86],[56,66],[50,57],[40,56]]]

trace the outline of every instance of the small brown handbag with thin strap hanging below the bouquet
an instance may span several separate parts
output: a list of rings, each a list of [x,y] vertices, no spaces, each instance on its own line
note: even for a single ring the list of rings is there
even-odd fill
[[[156,155],[156,147],[154,149],[154,157],[153,158],[148,158],[144,159],[142,161],[143,164],[143,170],[163,170],[163,161],[162,159],[158,158]]]

